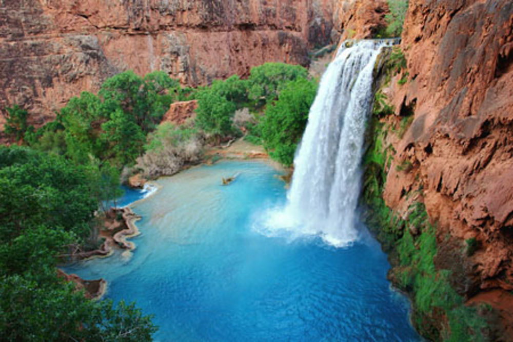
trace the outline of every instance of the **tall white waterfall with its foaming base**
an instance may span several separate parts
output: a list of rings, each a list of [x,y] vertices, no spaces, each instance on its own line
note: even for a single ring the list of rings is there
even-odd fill
[[[372,70],[381,47],[390,43],[364,40],[337,51],[310,108],[288,203],[267,216],[266,234],[320,235],[338,247],[358,239],[355,211]]]

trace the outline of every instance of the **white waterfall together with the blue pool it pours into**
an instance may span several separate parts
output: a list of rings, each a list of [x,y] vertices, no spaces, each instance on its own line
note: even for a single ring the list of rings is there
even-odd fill
[[[134,207],[143,218],[133,253],[65,271],[104,277],[107,297],[155,314],[156,340],[419,340],[408,300],[386,279],[386,255],[355,219],[380,44],[342,48],[330,64],[288,194],[262,162],[162,178]]]

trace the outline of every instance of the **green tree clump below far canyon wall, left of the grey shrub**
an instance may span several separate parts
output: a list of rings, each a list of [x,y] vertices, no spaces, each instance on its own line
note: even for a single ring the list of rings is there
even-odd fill
[[[177,81],[161,71],[146,77],[132,71],[105,81],[98,95],[83,92],[61,109],[54,122],[26,139],[38,150],[62,154],[78,164],[100,160],[118,169],[133,165],[146,134],[160,123],[174,98]]]

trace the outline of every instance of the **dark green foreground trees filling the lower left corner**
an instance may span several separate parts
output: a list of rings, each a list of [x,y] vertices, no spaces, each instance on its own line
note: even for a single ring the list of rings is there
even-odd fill
[[[150,317],[133,305],[90,301],[57,277],[57,256],[95,228],[101,179],[62,156],[0,147],[3,340],[151,340]]]

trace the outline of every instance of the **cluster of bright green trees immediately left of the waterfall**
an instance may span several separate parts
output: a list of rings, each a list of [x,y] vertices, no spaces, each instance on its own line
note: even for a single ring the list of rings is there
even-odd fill
[[[316,91],[317,83],[305,68],[266,63],[252,68],[247,80],[232,76],[199,90],[196,122],[218,142],[240,134],[240,128],[249,131],[248,140],[263,144],[272,158],[290,165]],[[235,110],[241,108],[248,108],[253,119],[234,125]]]

